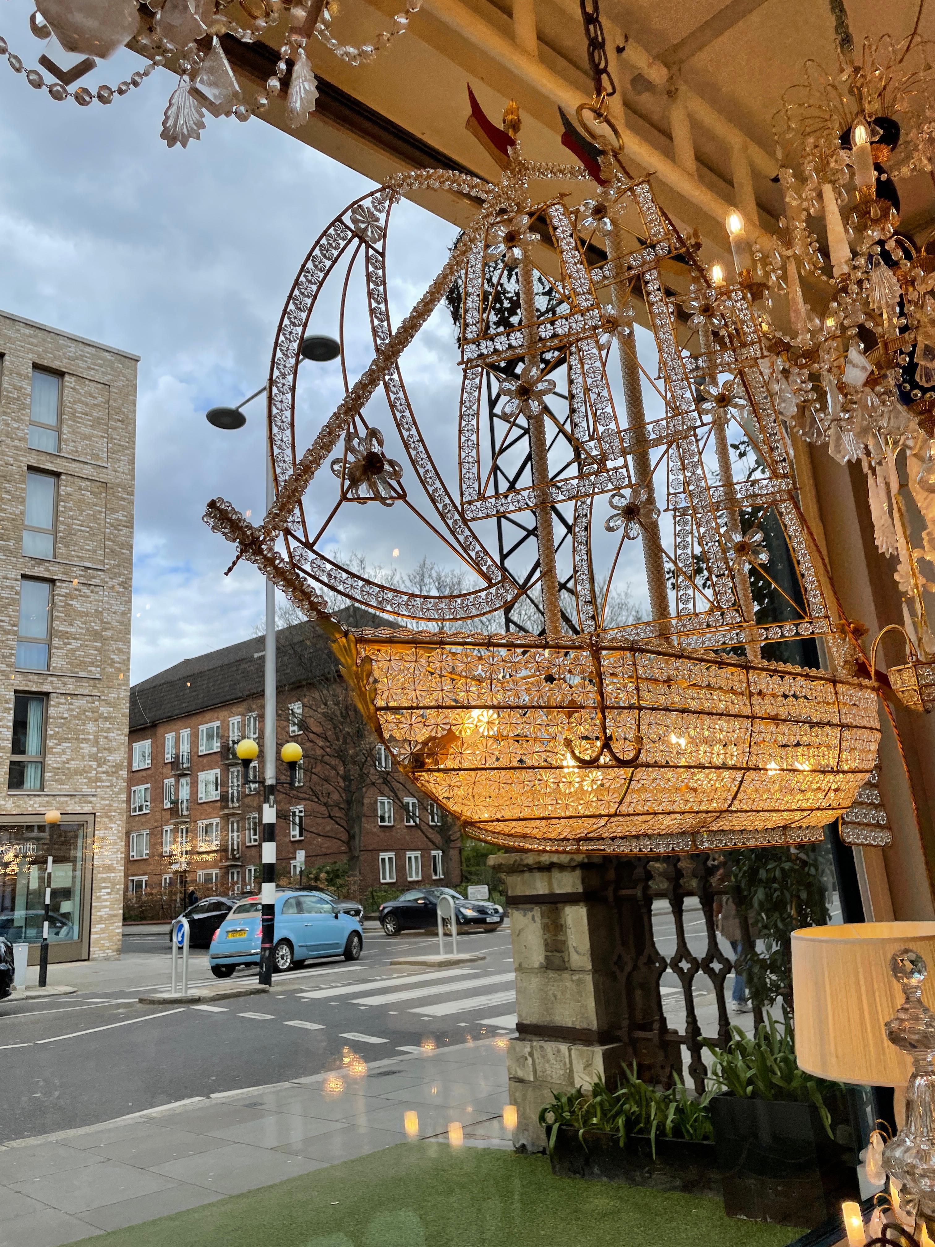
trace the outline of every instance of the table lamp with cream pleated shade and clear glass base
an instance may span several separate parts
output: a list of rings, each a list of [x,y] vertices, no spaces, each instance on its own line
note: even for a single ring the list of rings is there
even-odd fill
[[[905,1087],[883,1152],[906,1211],[935,1218],[935,923],[844,923],[792,935],[795,1056],[823,1079]],[[896,1120],[900,1120],[896,1105]]]

